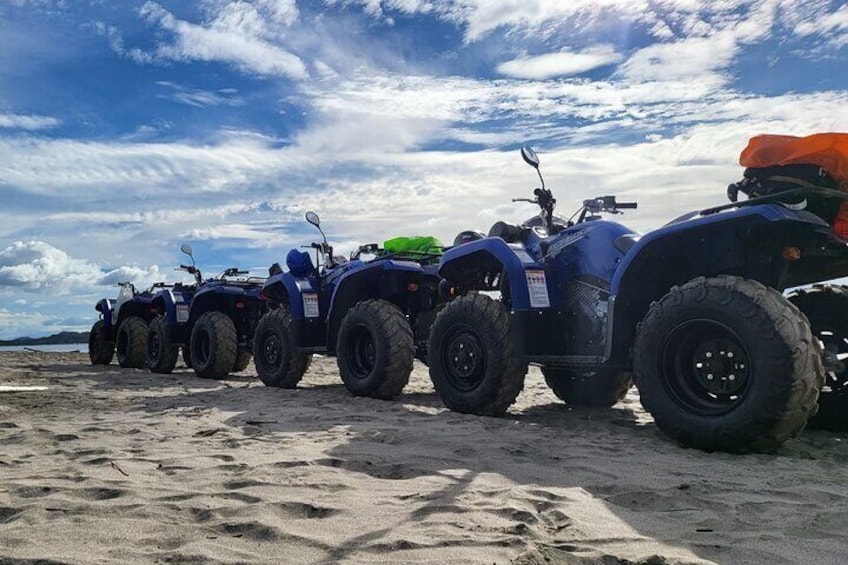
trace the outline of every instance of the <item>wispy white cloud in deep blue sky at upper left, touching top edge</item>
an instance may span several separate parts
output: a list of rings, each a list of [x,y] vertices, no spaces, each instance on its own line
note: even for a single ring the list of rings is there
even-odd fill
[[[296,13],[285,10],[287,3],[264,2],[262,6],[282,6],[272,12],[271,20],[294,21]],[[306,65],[276,41],[279,32],[268,26],[267,13],[246,2],[229,2],[218,6],[209,20],[195,24],[178,19],[156,2],[145,2],[139,14],[173,35],[173,43],[161,43],[155,57],[174,61],[221,61],[246,72],[278,75],[292,79],[309,76]]]

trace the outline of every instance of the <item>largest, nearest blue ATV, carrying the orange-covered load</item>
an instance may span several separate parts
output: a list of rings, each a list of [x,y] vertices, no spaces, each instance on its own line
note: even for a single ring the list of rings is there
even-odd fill
[[[456,298],[432,325],[429,366],[450,409],[504,413],[532,363],[573,405],[611,406],[635,379],[657,426],[707,451],[771,451],[804,428],[823,364],[844,366],[781,291],[848,274],[846,241],[812,205],[845,193],[753,193],[640,237],[600,216],[636,208],[614,196],[554,216],[538,157],[521,154],[542,182],[524,199],[539,216],[497,222],[439,265]]]

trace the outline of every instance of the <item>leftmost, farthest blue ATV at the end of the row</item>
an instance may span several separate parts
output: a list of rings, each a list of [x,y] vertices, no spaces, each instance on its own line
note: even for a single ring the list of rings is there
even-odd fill
[[[117,351],[118,364],[141,369],[147,351],[147,324],[152,318],[150,303],[164,283],[139,292],[130,282],[118,283],[118,298],[101,299],[95,309],[99,319],[88,334],[88,356],[92,365],[108,365]]]

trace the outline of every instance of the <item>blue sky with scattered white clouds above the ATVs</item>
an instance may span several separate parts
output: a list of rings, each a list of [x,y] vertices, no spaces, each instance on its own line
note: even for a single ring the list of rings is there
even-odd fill
[[[848,131],[848,5],[0,0],[0,339],[114,284],[638,200],[718,204],[759,133]]]

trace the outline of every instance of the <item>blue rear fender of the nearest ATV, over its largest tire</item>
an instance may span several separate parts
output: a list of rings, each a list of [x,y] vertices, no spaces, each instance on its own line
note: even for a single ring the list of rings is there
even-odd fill
[[[806,257],[790,262],[781,256],[784,246],[821,248],[829,240],[832,230],[821,218],[779,204],[687,214],[649,232],[622,258],[611,281],[608,355],[628,363],[636,325],[651,303],[696,277],[735,275],[782,290],[828,278],[819,264],[847,268],[848,257],[834,263]]]

